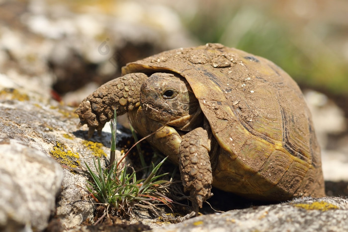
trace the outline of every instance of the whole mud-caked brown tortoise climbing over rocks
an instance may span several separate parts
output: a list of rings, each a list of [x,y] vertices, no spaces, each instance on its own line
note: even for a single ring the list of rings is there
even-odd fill
[[[208,43],[127,64],[76,113],[94,130],[117,115],[179,165],[195,213],[214,186],[255,200],[324,196],[310,111],[271,61]]]

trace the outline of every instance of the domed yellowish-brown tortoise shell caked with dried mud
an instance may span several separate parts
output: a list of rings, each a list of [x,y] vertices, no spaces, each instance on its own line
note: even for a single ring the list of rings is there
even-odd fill
[[[310,111],[297,84],[271,61],[206,44],[122,69],[123,75],[135,72],[172,72],[187,80],[219,144],[213,186],[261,200],[324,195]]]

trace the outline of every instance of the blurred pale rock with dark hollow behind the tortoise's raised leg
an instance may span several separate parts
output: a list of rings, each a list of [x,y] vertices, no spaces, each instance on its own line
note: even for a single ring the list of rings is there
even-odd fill
[[[64,95],[90,82],[100,86],[130,61],[195,44],[177,13],[163,4],[87,5],[0,1],[1,72],[16,80],[24,76],[28,86],[40,86],[42,94],[49,94],[49,87]],[[77,104],[85,95],[63,99]]]

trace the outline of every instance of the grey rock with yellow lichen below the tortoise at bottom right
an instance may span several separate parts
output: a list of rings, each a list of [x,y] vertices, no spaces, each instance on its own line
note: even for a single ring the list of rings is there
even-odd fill
[[[348,231],[348,200],[323,197],[204,215],[152,232]]]

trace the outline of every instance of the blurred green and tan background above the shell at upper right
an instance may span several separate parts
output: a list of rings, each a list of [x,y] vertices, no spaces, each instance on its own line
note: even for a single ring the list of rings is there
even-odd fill
[[[202,43],[263,56],[302,86],[348,95],[347,0],[175,1],[172,7]]]

